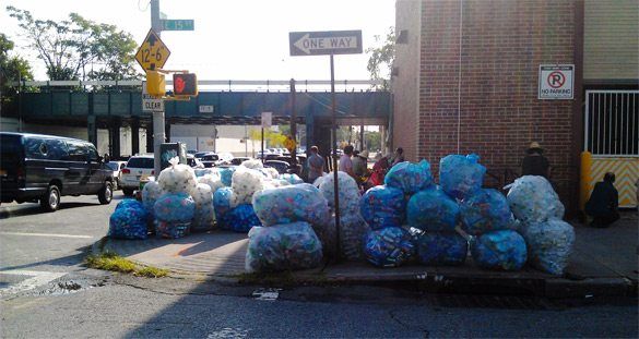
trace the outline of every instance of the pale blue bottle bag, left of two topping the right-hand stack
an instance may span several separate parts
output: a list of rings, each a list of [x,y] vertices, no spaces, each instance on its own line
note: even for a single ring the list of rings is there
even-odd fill
[[[402,190],[405,194],[426,190],[433,185],[433,173],[430,173],[430,164],[422,160],[417,164],[409,161],[400,162],[393,166],[383,178],[387,186]]]

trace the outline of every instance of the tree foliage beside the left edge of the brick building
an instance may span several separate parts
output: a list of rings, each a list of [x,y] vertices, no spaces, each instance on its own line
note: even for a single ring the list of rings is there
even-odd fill
[[[370,74],[371,80],[382,81],[381,86],[374,86],[378,89],[390,89],[389,80],[391,76],[393,61],[395,59],[395,31],[391,26],[389,27],[389,33],[386,35],[386,39],[379,35],[375,36],[375,45],[376,47],[370,47],[366,49],[366,52],[370,56],[368,57],[368,65],[366,69]]]

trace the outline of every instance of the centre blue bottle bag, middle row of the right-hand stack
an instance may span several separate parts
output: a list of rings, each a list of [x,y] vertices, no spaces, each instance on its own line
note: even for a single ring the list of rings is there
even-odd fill
[[[453,231],[458,219],[458,204],[438,187],[415,193],[406,205],[409,225],[424,231]]]

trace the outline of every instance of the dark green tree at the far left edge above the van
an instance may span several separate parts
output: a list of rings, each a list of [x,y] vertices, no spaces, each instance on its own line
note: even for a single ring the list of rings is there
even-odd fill
[[[0,33],[0,105],[2,105],[2,111],[15,109],[15,94],[17,92],[16,87],[10,86],[10,83],[33,80],[28,61],[17,56],[9,56],[13,47],[13,41]]]

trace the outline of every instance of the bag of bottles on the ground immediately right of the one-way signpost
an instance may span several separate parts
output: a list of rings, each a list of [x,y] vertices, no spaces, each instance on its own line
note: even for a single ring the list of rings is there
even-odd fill
[[[335,228],[334,216],[331,219],[331,228]],[[370,227],[364,221],[359,211],[340,216],[340,249],[342,258],[346,261],[364,259],[364,238]]]

